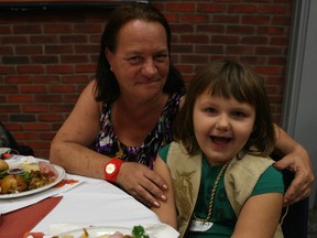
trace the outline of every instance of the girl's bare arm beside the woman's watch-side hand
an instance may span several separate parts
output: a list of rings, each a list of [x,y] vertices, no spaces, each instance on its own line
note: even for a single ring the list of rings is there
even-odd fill
[[[170,226],[177,229],[177,215],[174,198],[174,188],[170,169],[167,167],[166,163],[161,159],[161,156],[157,155],[153,170],[166,181],[168,185],[168,191],[166,192],[167,201],[162,202],[161,207],[158,208],[153,207],[152,210],[156,213],[162,223],[168,224]]]

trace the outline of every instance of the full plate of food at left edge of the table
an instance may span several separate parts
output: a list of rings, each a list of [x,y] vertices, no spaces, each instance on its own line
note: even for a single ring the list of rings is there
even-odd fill
[[[0,199],[46,191],[65,177],[65,170],[47,161],[10,163],[0,160]]]

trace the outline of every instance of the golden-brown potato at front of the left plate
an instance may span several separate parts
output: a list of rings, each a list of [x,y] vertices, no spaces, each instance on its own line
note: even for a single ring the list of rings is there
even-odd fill
[[[1,183],[1,194],[12,194],[26,191],[28,185],[19,174],[9,174],[3,177]]]

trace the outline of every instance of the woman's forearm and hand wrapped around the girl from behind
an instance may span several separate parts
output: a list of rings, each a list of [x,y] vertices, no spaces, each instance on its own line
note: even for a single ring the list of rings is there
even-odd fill
[[[287,169],[295,173],[295,178],[284,194],[284,205],[288,205],[309,196],[314,172],[309,155],[299,143],[277,126],[275,126],[275,153],[284,156],[274,166],[278,170]]]

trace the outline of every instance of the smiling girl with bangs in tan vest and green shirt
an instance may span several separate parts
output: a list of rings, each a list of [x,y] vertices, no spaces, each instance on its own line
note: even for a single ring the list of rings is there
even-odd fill
[[[261,78],[242,63],[217,61],[190,82],[154,171],[168,201],[153,208],[181,237],[283,237],[282,173],[269,158],[275,134]],[[177,217],[177,218],[176,218]]]

